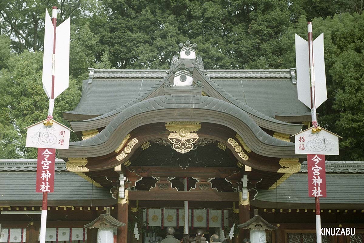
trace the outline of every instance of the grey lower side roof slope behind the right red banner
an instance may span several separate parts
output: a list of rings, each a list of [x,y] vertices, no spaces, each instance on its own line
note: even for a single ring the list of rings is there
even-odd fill
[[[332,209],[348,207],[344,204],[364,204],[364,174],[326,174],[327,197],[320,198],[320,204],[331,204]],[[308,196],[308,177],[306,173],[293,174],[274,190],[258,189],[256,200],[251,204],[259,207],[294,208],[301,204],[303,208],[314,208],[314,197]],[[336,206],[334,206],[336,205]],[[296,205],[298,206],[298,205]],[[310,207],[308,207],[310,206]],[[350,206],[351,207],[351,206]],[[357,206],[352,206],[354,209]],[[324,208],[324,207],[321,207]],[[327,208],[327,207],[326,207]],[[338,208],[339,209],[339,208]],[[348,208],[347,208],[348,209]]]

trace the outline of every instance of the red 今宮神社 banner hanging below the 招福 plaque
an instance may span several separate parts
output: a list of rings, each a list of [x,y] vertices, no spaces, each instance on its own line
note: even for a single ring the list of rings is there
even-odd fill
[[[325,155],[307,154],[308,196],[326,197]]]

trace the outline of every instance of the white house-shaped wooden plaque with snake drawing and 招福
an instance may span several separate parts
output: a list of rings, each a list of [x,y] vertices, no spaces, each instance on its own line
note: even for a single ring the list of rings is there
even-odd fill
[[[339,155],[339,136],[325,129],[312,133],[312,128],[294,135],[296,154]]]

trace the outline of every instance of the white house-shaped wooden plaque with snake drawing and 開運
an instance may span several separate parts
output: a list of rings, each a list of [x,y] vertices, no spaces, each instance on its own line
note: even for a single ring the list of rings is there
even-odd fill
[[[70,129],[59,122],[53,121],[52,126],[44,126],[43,121],[29,126],[25,147],[68,149]]]

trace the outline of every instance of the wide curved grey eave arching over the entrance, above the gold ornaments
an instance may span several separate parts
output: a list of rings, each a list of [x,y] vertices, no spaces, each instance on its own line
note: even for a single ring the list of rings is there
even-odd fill
[[[168,121],[220,124],[240,134],[257,154],[267,157],[297,157],[293,143],[266,134],[241,108],[220,99],[195,94],[163,95],[131,105],[121,111],[99,134],[84,141],[73,142],[68,150],[60,149],[59,153],[61,157],[106,155],[113,152],[133,129]]]

